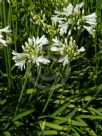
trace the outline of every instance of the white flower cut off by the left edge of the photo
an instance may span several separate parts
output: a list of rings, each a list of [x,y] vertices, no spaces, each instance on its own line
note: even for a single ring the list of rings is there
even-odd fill
[[[10,27],[7,26],[7,27],[5,27],[3,29],[0,29],[0,43],[2,45],[4,45],[4,46],[7,46],[8,41],[6,41],[6,40],[3,39],[2,33],[10,34],[11,33]]]

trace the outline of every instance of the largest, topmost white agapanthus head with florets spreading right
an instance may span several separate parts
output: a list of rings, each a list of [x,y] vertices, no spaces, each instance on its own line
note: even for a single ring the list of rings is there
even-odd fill
[[[96,13],[85,16],[83,8],[84,3],[76,4],[75,7],[70,3],[63,11],[55,11],[52,21],[56,25],[60,35],[70,34],[72,30],[86,29],[93,34],[96,27]],[[69,32],[70,31],[70,32]]]

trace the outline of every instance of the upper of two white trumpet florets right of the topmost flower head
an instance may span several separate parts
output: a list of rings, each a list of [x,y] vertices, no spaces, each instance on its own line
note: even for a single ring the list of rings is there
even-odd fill
[[[96,23],[96,13],[92,13],[90,15],[87,16],[83,16],[82,19],[85,21],[85,23],[92,25],[94,27],[96,27],[97,23]]]

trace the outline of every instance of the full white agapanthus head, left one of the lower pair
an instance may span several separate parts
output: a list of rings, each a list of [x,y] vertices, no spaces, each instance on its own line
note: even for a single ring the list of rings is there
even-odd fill
[[[25,68],[25,65],[30,62],[32,64],[36,63],[37,66],[50,63],[50,61],[43,56],[43,45],[47,43],[48,40],[44,35],[41,38],[28,38],[28,42],[25,42],[25,46],[22,45],[22,53],[12,52],[12,59],[15,61],[15,65],[22,70]]]

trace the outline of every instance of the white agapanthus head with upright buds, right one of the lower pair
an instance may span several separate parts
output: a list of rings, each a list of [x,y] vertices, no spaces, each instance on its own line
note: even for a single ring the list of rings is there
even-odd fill
[[[80,52],[85,51],[84,47],[78,49],[78,46],[76,45],[76,42],[73,40],[72,36],[70,37],[69,42],[65,38],[63,43],[56,37],[53,39],[51,50],[60,55],[58,62],[62,62],[63,66],[68,65],[73,57],[78,55]]]

